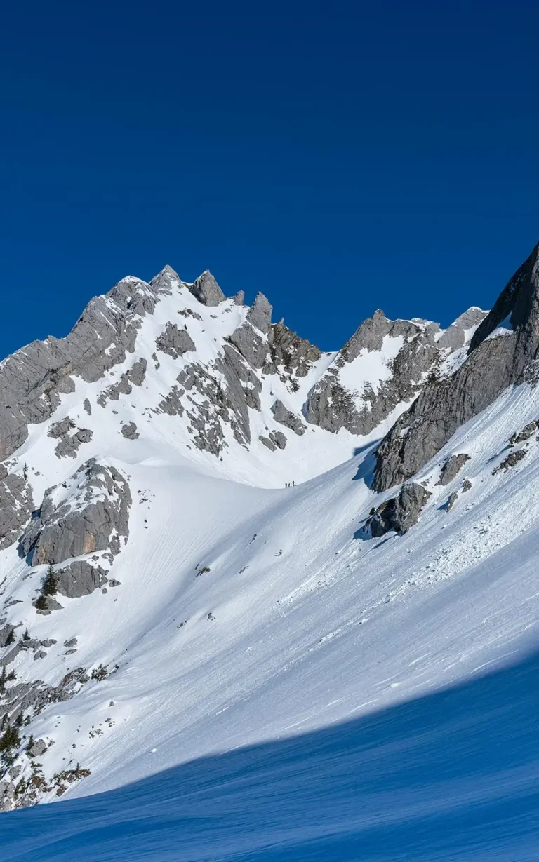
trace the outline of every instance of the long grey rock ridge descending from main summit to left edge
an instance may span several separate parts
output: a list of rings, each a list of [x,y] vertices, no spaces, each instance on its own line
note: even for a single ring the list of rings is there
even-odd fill
[[[153,314],[156,290],[137,278],[124,278],[104,297],[86,306],[64,339],[52,335],[17,351],[0,365],[0,459],[27,437],[29,422],[44,422],[74,390],[72,377],[86,382],[123,362],[132,353],[142,318]]]

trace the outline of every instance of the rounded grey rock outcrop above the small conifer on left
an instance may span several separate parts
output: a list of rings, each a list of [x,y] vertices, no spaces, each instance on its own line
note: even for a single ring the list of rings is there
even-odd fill
[[[72,490],[55,506],[53,488],[43,497],[38,517],[28,524],[20,553],[30,565],[57,564],[94,551],[120,552],[120,537],[128,537],[131,494],[116,467],[90,459],[72,479]]]

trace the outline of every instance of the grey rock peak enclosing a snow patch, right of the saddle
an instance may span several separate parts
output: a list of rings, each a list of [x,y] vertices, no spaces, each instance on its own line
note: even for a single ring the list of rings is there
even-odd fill
[[[435,339],[438,330],[437,323],[390,321],[383,311],[375,311],[361,323],[310,392],[304,408],[307,422],[332,433],[347,428],[351,434],[370,434],[399,403],[410,401],[423,386],[425,374],[440,356]],[[376,391],[368,383],[358,392],[348,390],[341,382],[340,370],[360,354],[380,350],[385,336],[404,340],[392,360],[391,377],[380,381]],[[356,406],[357,397],[364,406]]]

